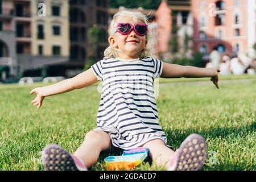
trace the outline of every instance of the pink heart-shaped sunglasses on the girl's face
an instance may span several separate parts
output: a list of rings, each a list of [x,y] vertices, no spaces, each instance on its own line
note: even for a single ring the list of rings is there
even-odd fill
[[[139,36],[147,34],[147,24],[146,23],[135,23],[134,26],[131,23],[118,23],[117,31],[119,34],[127,35],[134,30]]]

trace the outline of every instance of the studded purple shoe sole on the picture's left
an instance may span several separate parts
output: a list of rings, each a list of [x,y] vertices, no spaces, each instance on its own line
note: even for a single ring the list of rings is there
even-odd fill
[[[79,171],[71,154],[56,144],[46,146],[42,158],[46,171]]]

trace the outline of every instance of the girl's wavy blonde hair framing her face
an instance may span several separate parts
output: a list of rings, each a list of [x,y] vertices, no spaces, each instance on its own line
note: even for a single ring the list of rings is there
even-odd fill
[[[146,15],[141,13],[141,11],[138,10],[128,10],[128,9],[123,9],[119,10],[118,13],[116,13],[113,17],[113,20],[110,22],[109,26],[109,37],[114,36],[116,27],[117,27],[117,19],[119,17],[131,17],[133,18],[134,22],[137,22],[138,20],[142,21],[143,23],[146,23],[147,25],[149,24]],[[147,45],[146,48],[144,48],[141,51],[141,54],[139,55],[139,58],[143,58],[146,56],[152,56],[155,53],[155,48],[154,48],[154,43],[152,42],[152,36],[151,32],[149,31],[150,28],[148,28],[147,34],[146,34],[146,40],[147,40]],[[110,58],[117,58],[117,48],[114,48],[113,46],[109,46],[108,48],[105,49],[104,51],[104,56],[105,57],[110,57]]]

